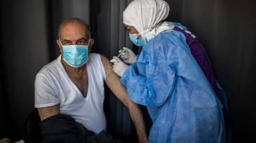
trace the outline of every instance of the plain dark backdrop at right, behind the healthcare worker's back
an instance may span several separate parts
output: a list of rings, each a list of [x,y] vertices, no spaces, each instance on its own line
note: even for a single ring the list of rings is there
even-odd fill
[[[181,22],[205,47],[227,92],[233,142],[255,142],[256,1],[183,0]]]

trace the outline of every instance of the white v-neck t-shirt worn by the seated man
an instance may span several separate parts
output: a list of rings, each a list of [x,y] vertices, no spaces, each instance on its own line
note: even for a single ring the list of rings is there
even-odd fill
[[[106,74],[99,54],[89,54],[88,93],[86,98],[65,72],[61,56],[44,66],[35,79],[35,107],[60,104],[60,113],[68,114],[76,122],[99,134],[106,131],[104,114],[104,80]]]

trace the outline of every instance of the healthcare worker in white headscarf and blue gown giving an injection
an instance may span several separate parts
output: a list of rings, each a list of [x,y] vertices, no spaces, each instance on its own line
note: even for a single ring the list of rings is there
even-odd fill
[[[163,21],[169,11],[163,0],[134,0],[127,6],[124,26],[142,52],[136,56],[124,47],[126,64],[114,56],[113,70],[129,98],[147,106],[150,142],[226,142],[226,95],[196,36],[181,24]]]

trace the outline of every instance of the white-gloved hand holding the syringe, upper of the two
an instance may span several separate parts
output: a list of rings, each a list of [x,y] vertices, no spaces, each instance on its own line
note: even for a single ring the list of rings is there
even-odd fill
[[[127,64],[133,64],[137,60],[136,54],[127,47],[123,47],[123,49],[124,51],[121,54],[121,59]]]

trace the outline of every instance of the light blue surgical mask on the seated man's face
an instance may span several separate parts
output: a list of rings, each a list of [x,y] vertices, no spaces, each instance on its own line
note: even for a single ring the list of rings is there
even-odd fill
[[[89,39],[89,44],[90,44]],[[61,44],[61,43],[60,43]],[[88,45],[89,45],[88,44]],[[73,67],[83,66],[88,61],[88,45],[62,45],[63,59]]]

